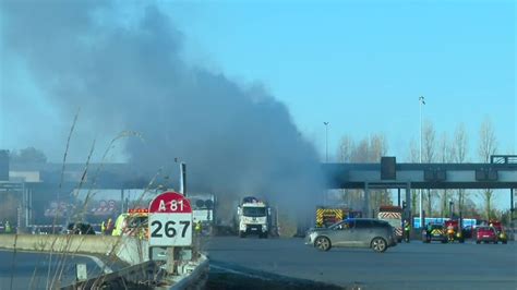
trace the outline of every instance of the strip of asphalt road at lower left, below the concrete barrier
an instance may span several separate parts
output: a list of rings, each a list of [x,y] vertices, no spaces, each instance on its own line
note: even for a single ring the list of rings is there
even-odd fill
[[[84,263],[88,270],[88,277],[100,274],[100,267],[87,256],[63,256],[52,255],[49,259],[48,253],[29,253],[0,250],[0,290],[4,289],[47,289],[56,273],[61,271],[60,286],[67,286],[75,279],[75,264]],[[50,262],[50,263],[49,263]],[[50,276],[48,276],[50,267]],[[58,270],[58,265],[60,265]],[[64,267],[61,267],[64,265]],[[59,274],[58,274],[59,276]],[[12,277],[12,279],[11,279]],[[49,279],[47,277],[50,277]],[[58,279],[55,279],[56,281]],[[12,281],[12,287],[11,287]],[[55,285],[53,289],[57,287]]]

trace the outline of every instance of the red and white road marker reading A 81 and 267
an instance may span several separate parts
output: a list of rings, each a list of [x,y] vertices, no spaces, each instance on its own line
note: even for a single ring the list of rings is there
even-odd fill
[[[164,192],[149,204],[149,246],[192,245],[192,207],[176,192]]]

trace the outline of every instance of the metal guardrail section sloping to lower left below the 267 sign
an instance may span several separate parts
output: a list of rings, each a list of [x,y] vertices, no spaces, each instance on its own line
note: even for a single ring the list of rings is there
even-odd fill
[[[76,281],[73,285],[62,287],[61,290],[79,289],[128,289],[153,287],[161,280],[165,271],[160,268],[164,263],[148,261],[121,270],[105,274],[85,281]]]

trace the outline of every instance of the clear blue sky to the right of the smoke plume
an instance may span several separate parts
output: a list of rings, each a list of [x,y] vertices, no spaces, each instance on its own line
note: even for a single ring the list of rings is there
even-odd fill
[[[165,2],[185,57],[247,86],[261,83],[290,109],[323,156],[342,134],[384,132],[404,159],[424,119],[440,136],[465,122],[470,160],[492,119],[501,153],[516,153],[513,1]]]

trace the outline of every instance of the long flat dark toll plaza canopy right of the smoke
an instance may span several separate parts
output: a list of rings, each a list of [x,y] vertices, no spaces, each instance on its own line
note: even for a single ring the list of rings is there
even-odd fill
[[[411,212],[413,189],[508,189],[514,210],[517,189],[517,156],[494,155],[490,164],[397,164],[383,157],[380,164],[324,164],[327,189],[364,190],[364,210],[370,213],[370,190],[406,190],[407,210]]]

